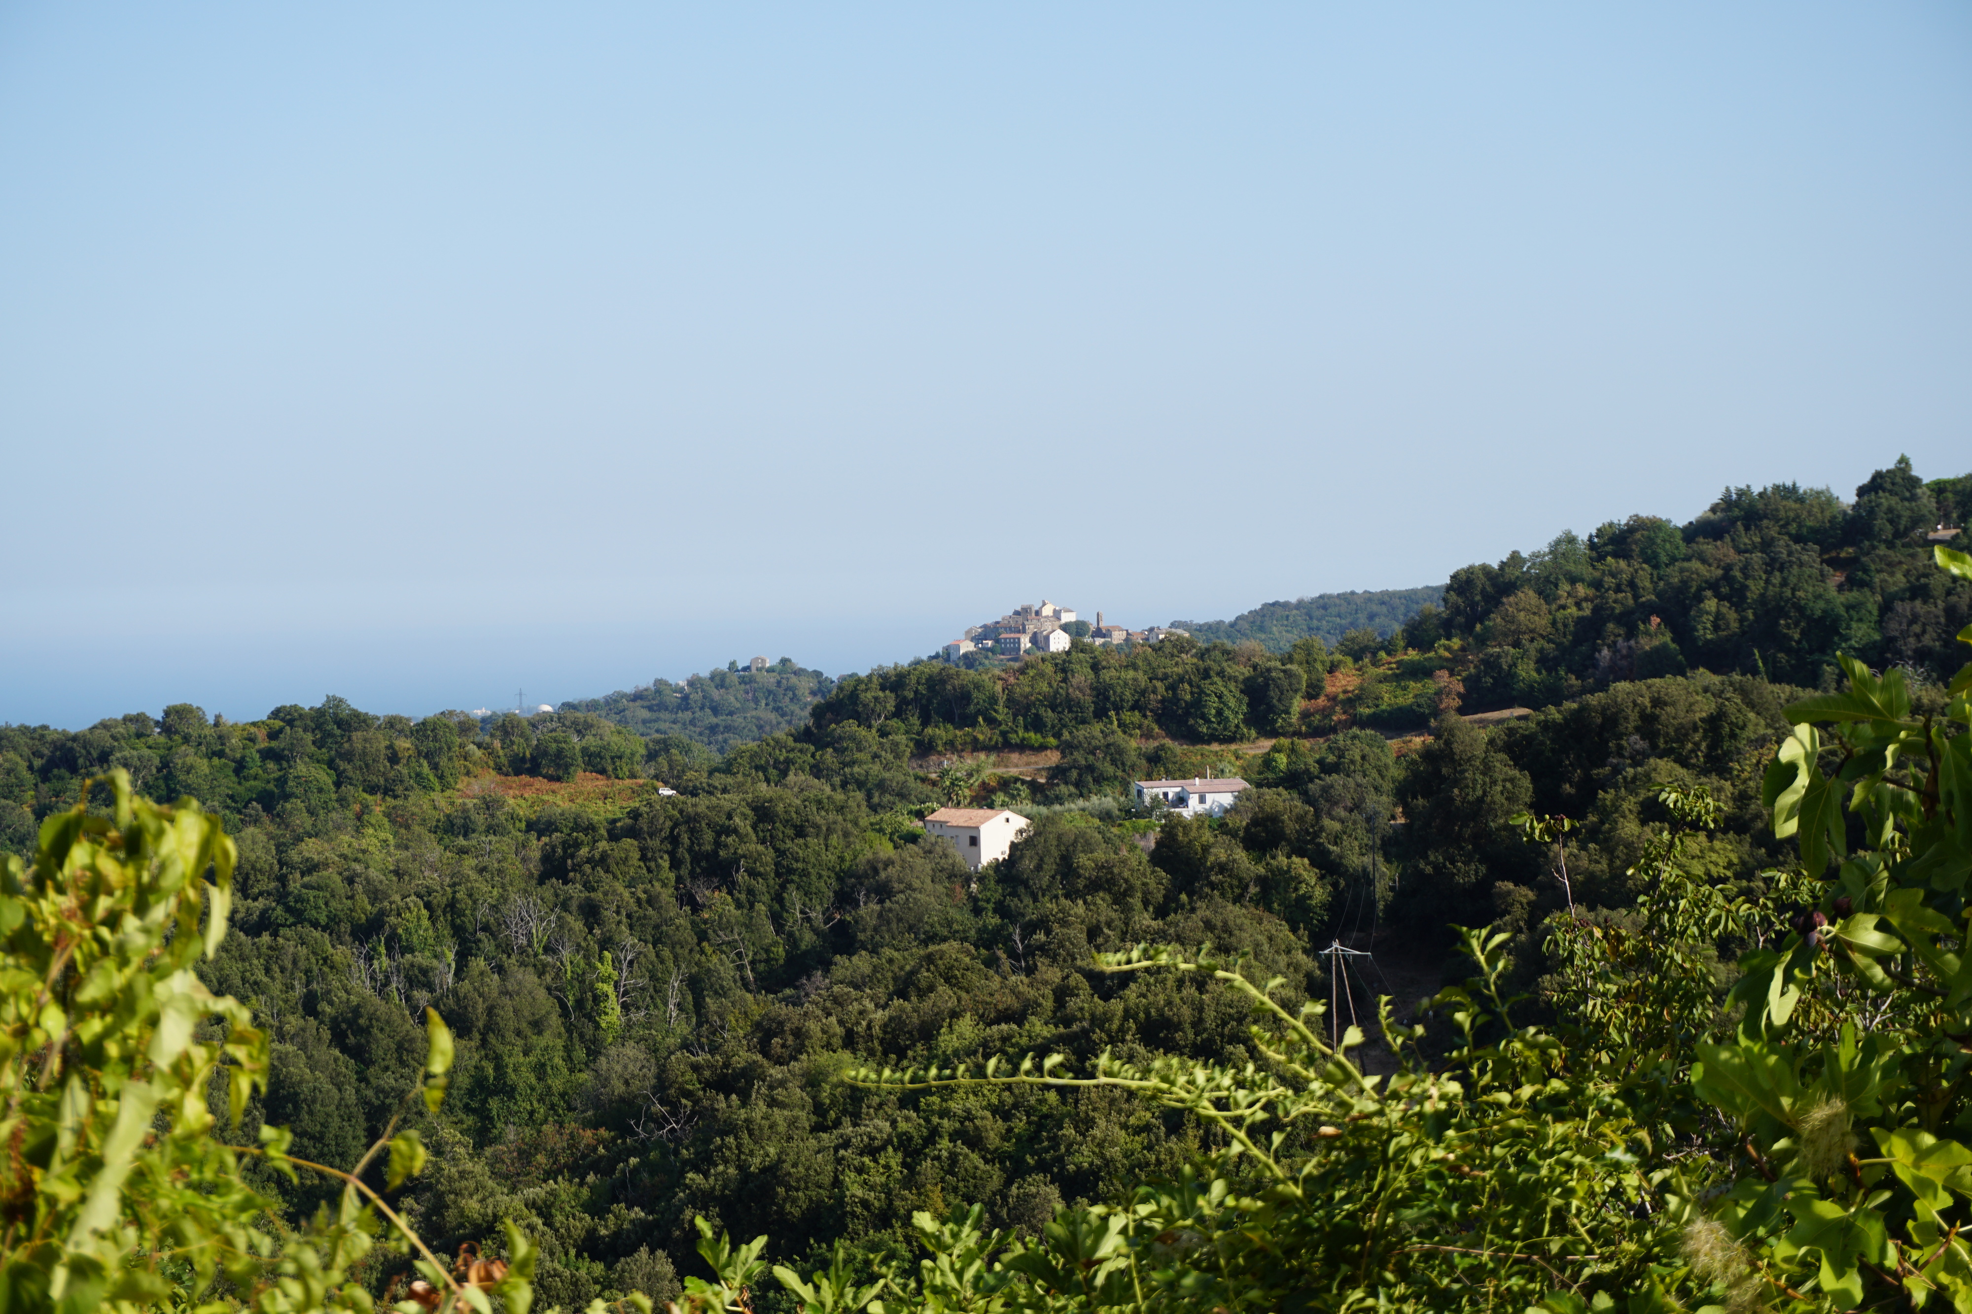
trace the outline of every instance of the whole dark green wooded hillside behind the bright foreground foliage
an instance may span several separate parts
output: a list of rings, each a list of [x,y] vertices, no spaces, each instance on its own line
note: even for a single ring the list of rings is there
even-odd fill
[[[1895,668],[1909,691],[1895,715],[1956,725],[1944,713],[1964,699],[1946,682],[1972,579],[1937,569],[1925,534],[1966,506],[1972,481],[1925,485],[1907,463],[1854,506],[1795,485],[1731,489],[1682,528],[1635,516],[1461,569],[1442,607],[1388,634],[1357,624],[1284,650],[1171,638],[840,684],[714,674],[684,697],[653,686],[487,723],[331,697],[252,723],[172,705],[79,733],[0,727],[0,847],[32,851],[37,823],[112,768],[150,798],[205,800],[239,867],[235,930],[199,971],[272,1040],[245,1143],[268,1121],[294,1131],[296,1154],[353,1162],[418,1082],[430,1005],[458,1062],[444,1113],[412,1115],[432,1162],[400,1204],[448,1255],[521,1223],[542,1249],[544,1306],[676,1294],[680,1275],[706,1273],[694,1215],[765,1233],[769,1257],[803,1273],[846,1241],[846,1263],[872,1275],[909,1259],[917,1212],[978,1204],[982,1225],[1035,1237],[1061,1206],[1122,1202],[1229,1145],[1223,1125],[1116,1085],[844,1082],[1027,1052],[1085,1070],[1104,1052],[1264,1064],[1242,995],[1209,973],[1100,971],[1098,952],[1248,953],[1248,975],[1282,979],[1290,1013],[1347,1001],[1380,1034],[1371,999],[1392,993],[1398,1020],[1422,1017],[1422,999],[1483,957],[1451,924],[1491,924],[1505,936],[1485,959],[1495,985],[1532,991],[1524,1018],[1564,1024],[1587,971],[1578,942],[1556,940],[1570,906],[1613,938],[1656,916],[1639,898],[1678,871],[1739,908],[1708,924],[1692,948],[1706,967],[1680,987],[1700,991],[1692,1034],[1714,1034],[1731,963],[1785,934],[1759,918],[1795,888],[1793,845],[1771,825],[1771,762],[1800,743],[1789,703],[1856,678],[1842,652]],[[805,690],[818,699],[793,729],[724,755],[696,743],[765,731]],[[1528,715],[1459,715],[1505,705]],[[1960,733],[1938,729],[1938,743]],[[1213,821],[1124,798],[1140,772],[1203,770],[1254,788]],[[1035,825],[968,873],[917,825],[941,804],[1018,806]],[[1526,814],[1574,827],[1560,831],[1566,885],[1552,843],[1526,841]],[[1828,816],[1864,843],[1860,823]],[[1331,977],[1319,952],[1335,942],[1365,957]],[[1434,1062],[1467,1052],[1455,1026],[1432,1026],[1416,1044]],[[1660,1107],[1676,1123],[1651,1141],[1656,1156],[1718,1131],[1688,1113],[1692,1036],[1678,1044],[1684,1066],[1637,1068],[1658,1072],[1668,1103],[1621,1095],[1625,1117]],[[1664,1082],[1686,1085],[1664,1095]],[[1690,1162],[1729,1176],[1718,1164],[1733,1152]],[[1631,1192],[1615,1219],[1690,1208],[1666,1206],[1668,1176],[1637,1180],[1607,1188]],[[296,1212],[325,1198],[306,1180],[266,1188]],[[1457,1251],[1469,1225],[1444,1221],[1444,1245],[1422,1251]],[[1635,1290],[1625,1282],[1647,1273],[1706,1286],[1674,1255],[1623,1255],[1607,1271],[1589,1255],[1578,1288]],[[1426,1259],[1388,1263],[1390,1290],[1426,1282],[1404,1267]],[[1467,1308],[1451,1304],[1463,1279],[1444,1282],[1444,1304],[1392,1308]],[[785,1292],[753,1298],[793,1308]]]

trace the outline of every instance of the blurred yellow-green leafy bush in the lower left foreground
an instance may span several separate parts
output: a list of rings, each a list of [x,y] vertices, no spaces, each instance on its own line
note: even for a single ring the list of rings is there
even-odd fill
[[[126,772],[91,784],[110,790],[110,816],[77,804],[51,818],[34,867],[8,857],[0,890],[0,1308],[122,1312],[203,1298],[213,1310],[369,1314],[377,1302],[353,1273],[377,1245],[381,1214],[394,1229],[388,1249],[420,1255],[412,1310],[489,1314],[493,1292],[527,1314],[523,1235],[509,1233],[511,1261],[450,1269],[363,1180],[383,1150],[388,1190],[416,1172],[426,1152],[414,1131],[392,1137],[392,1125],[353,1172],[290,1158],[288,1133],[274,1127],[260,1129],[258,1149],[225,1143],[268,1072],[248,1009],[191,971],[225,938],[235,845],[189,800],[134,798]],[[432,1111],[450,1066],[452,1036],[434,1013]],[[337,1208],[300,1229],[282,1223],[280,1202],[248,1186],[243,1154],[290,1178],[304,1166],[341,1180]]]

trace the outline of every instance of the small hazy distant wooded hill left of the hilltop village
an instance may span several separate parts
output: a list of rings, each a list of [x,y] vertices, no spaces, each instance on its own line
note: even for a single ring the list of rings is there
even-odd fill
[[[714,670],[688,676],[684,684],[653,680],[627,693],[584,697],[560,711],[586,711],[639,735],[682,735],[714,753],[793,729],[809,719],[809,707],[832,688],[818,670],[805,670],[781,658],[761,672]]]

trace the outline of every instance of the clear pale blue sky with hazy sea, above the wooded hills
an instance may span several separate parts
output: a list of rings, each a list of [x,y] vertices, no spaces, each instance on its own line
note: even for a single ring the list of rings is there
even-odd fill
[[[1972,467],[1972,8],[0,8],[0,721],[830,672]]]

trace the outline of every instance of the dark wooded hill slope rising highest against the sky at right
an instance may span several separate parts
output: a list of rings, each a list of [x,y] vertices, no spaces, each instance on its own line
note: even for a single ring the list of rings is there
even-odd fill
[[[1467,565],[1410,642],[1461,640],[1479,705],[1546,705],[1692,668],[1822,686],[1840,678],[1836,652],[1937,682],[1972,611],[1925,534],[1968,510],[1972,477],[1925,485],[1907,459],[1856,489],[1854,506],[1828,489],[1727,489],[1684,528],[1631,516]]]

